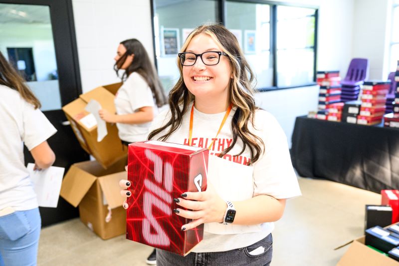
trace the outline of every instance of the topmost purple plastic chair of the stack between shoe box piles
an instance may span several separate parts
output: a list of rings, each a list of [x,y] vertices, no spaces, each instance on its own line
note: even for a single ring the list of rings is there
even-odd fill
[[[349,64],[346,77],[341,84],[348,87],[355,87],[363,84],[363,81],[369,77],[369,59],[353,58]]]

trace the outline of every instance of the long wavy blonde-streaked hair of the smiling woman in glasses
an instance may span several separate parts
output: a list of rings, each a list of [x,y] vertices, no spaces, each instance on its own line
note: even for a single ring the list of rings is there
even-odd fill
[[[185,52],[193,37],[201,33],[211,37],[222,47],[222,51],[225,52],[229,58],[232,75],[229,88],[230,101],[233,106],[237,107],[231,121],[233,133],[232,144],[224,149],[219,154],[219,157],[223,157],[227,154],[234,147],[237,139],[240,138],[243,146],[236,156],[241,155],[245,151],[245,148],[248,147],[251,156],[251,160],[248,164],[253,164],[259,159],[262,150],[264,150],[262,139],[248,129],[249,122],[254,125],[254,113],[257,109],[253,96],[253,87],[255,84],[253,72],[243,55],[236,37],[220,24],[204,24],[194,29],[187,37],[181,52]],[[172,114],[171,119],[161,128],[150,132],[149,139],[152,139],[170,127],[164,135],[158,138],[158,140],[166,141],[169,136],[180,127],[183,115],[188,111],[190,103],[195,99],[195,96],[188,90],[184,83],[183,65],[179,58],[177,59],[177,64],[180,71],[180,78],[169,93],[169,106]]]

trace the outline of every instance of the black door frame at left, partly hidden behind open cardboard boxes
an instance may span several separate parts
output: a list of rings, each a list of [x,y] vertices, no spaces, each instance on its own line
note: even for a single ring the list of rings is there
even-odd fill
[[[82,87],[72,0],[0,0],[0,3],[49,6],[61,106],[78,98],[82,94]],[[66,121],[64,112],[58,109],[43,113],[58,131],[47,140],[56,153],[54,166],[64,167],[66,173],[71,164],[89,160],[89,155],[80,147],[72,128],[62,123]],[[34,162],[26,147],[24,147],[24,158],[25,164]],[[79,217],[78,209],[61,197],[58,200],[57,208],[39,207],[39,210],[42,227]]]

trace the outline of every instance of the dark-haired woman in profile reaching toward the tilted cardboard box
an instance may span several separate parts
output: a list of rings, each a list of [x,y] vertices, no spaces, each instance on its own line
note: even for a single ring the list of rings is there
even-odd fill
[[[122,41],[115,56],[114,69],[118,75],[125,70],[124,82],[115,97],[116,114],[102,109],[100,117],[116,123],[119,137],[124,144],[143,141],[158,108],[167,103],[161,82],[146,49],[137,39]]]

